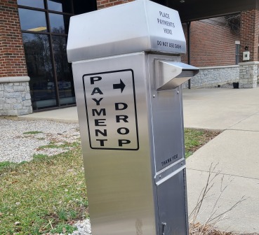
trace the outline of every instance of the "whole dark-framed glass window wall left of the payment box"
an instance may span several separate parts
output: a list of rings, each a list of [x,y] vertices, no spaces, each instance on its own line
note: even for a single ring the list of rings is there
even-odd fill
[[[66,52],[72,0],[18,0],[18,10],[34,111],[74,105]]]

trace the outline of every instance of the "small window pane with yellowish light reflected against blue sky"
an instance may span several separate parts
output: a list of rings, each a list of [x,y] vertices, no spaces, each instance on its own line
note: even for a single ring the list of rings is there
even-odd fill
[[[22,30],[47,31],[46,14],[44,12],[19,8],[19,16]]]

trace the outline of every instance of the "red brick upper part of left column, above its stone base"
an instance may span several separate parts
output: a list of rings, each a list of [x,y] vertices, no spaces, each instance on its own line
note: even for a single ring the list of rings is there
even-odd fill
[[[16,1],[0,3],[0,79],[27,76]]]

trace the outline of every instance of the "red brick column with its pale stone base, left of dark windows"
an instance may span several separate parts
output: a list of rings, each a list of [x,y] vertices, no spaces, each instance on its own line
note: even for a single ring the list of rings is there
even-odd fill
[[[32,113],[17,1],[0,4],[0,115]]]

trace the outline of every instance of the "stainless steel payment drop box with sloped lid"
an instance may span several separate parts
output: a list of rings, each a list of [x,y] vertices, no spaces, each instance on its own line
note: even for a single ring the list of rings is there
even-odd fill
[[[71,18],[93,235],[188,234],[182,52],[178,12],[152,1]]]

